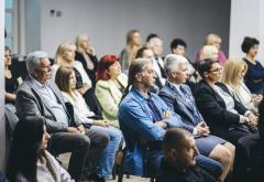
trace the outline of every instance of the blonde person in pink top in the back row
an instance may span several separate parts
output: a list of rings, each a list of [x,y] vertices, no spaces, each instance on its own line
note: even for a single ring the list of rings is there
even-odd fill
[[[227,61],[227,56],[224,55],[224,53],[221,51],[221,38],[215,33],[210,33],[207,35],[206,38],[206,41],[205,41],[205,45],[212,45],[215,47],[217,47],[217,53],[215,53],[213,51],[213,54],[216,54],[216,60],[219,61],[219,64],[221,66],[224,65],[226,61]],[[212,58],[212,57],[205,57],[205,53],[202,53],[205,51],[200,51],[198,54],[197,54],[197,61],[196,63],[199,63],[200,61],[205,60],[205,58]],[[202,55],[204,54],[204,55]]]

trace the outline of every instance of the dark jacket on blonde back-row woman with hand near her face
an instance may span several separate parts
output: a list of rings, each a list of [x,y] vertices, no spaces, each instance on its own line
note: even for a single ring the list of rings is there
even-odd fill
[[[97,60],[96,55],[95,56],[90,55],[90,54],[87,54],[87,55],[90,57],[91,62],[95,65],[94,69],[88,69],[87,68],[87,62],[86,62],[86,60],[85,60],[85,57],[81,53],[75,52],[75,60],[79,61],[82,64],[87,75],[91,79],[92,87],[95,87],[96,86],[96,72],[97,72],[97,67],[98,67],[98,60]]]

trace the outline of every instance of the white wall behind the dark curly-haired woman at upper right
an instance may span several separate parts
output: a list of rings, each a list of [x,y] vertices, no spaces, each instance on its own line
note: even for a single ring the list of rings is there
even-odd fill
[[[232,0],[230,20],[230,56],[244,56],[241,43],[244,36],[260,41],[257,60],[264,63],[264,1]]]

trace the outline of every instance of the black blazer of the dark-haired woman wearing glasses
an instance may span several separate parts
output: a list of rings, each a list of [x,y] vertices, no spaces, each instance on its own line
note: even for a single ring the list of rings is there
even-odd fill
[[[230,94],[226,85],[217,83],[226,93]],[[231,95],[231,94],[230,94]],[[231,95],[232,96],[232,95]],[[233,97],[233,96],[232,96]],[[196,104],[200,110],[202,117],[210,126],[212,133],[217,136],[222,136],[227,132],[232,126],[239,126],[240,116],[228,111],[226,108],[224,100],[219,94],[215,92],[206,82],[201,81],[197,85],[196,94]],[[244,115],[246,108],[241,105],[238,100],[234,99],[234,109],[240,114]]]

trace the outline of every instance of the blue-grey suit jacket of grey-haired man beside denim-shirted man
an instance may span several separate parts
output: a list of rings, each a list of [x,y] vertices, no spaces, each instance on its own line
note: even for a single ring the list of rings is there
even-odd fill
[[[198,122],[204,121],[204,118],[196,106],[190,88],[182,84],[182,90],[185,97],[179,94],[173,84],[166,82],[158,96],[173,111],[182,117],[185,124],[196,126]]]

